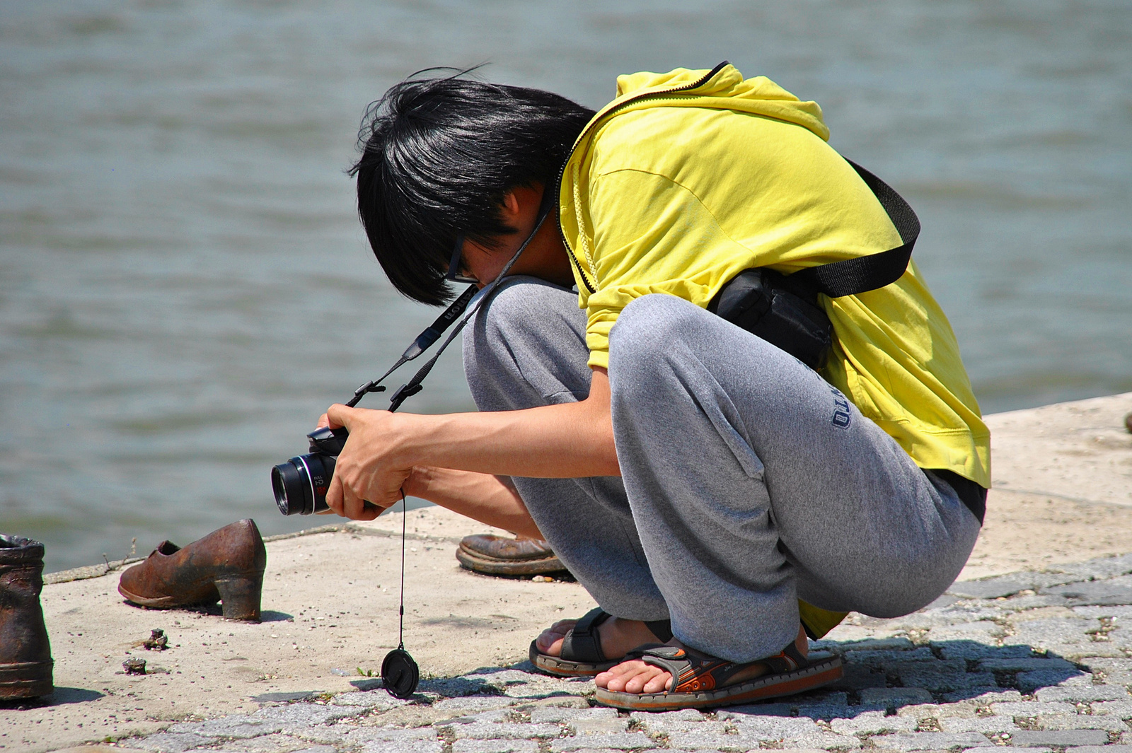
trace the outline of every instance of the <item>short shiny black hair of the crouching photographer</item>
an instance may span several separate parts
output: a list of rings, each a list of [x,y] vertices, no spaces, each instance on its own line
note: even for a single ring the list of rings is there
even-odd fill
[[[488,248],[513,233],[504,194],[555,190],[594,111],[541,89],[419,71],[367,107],[358,133],[358,216],[374,256],[403,295],[439,305],[456,235]],[[446,69],[452,70],[452,69]]]

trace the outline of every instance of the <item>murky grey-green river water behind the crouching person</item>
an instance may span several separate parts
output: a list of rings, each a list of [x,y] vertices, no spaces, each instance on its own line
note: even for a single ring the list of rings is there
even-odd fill
[[[723,59],[916,207],[985,412],[1132,390],[1126,0],[2,0],[0,531],[59,570],[312,525],[268,469],[435,315],[353,213],[367,103],[488,63],[597,107]],[[456,348],[410,406],[472,407]]]

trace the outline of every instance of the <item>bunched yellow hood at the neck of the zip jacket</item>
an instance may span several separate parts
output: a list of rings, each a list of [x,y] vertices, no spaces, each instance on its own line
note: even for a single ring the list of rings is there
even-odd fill
[[[659,96],[666,93],[668,96]],[[618,76],[617,98],[602,107],[590,124],[615,110],[620,113],[674,105],[749,112],[801,126],[825,141],[830,139],[830,129],[816,102],[803,102],[765,76],[744,79],[743,73],[727,62],[710,71],[677,68],[667,73]]]

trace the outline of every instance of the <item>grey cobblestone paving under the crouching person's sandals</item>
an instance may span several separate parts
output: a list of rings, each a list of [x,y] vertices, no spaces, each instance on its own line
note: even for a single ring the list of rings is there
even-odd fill
[[[183,721],[117,744],[160,753],[1132,753],[1132,554],[957,582],[906,617],[854,615],[814,648],[844,658],[837,685],[706,713],[595,707],[591,681],[522,663],[422,681],[409,701],[359,678],[357,692]]]

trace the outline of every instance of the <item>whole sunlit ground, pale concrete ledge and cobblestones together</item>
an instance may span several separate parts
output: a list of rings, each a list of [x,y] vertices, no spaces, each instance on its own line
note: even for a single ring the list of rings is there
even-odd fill
[[[95,741],[118,753],[1060,751],[1106,741],[1132,753],[1121,737],[1132,719],[1132,565],[1120,559],[1132,552],[1130,412],[1132,392],[987,416],[995,486],[963,582],[916,615],[838,628],[821,648],[846,656],[846,680],[789,704],[714,716],[590,709],[589,682],[521,663],[539,630],[593,606],[585,590],[461,570],[461,537],[489,529],[428,508],[406,520],[406,638],[428,673],[413,702],[393,701],[371,676],[396,638],[403,520],[391,513],[269,540],[259,624],[221,620],[218,608],[129,606],[114,569],[126,563],[52,573],[42,603],[55,692],[0,704],[0,753],[103,753]],[[155,628],[168,652],[140,648]],[[146,675],[125,674],[136,658],[149,660]],[[1066,693],[1078,695],[1060,700]]]

